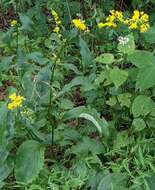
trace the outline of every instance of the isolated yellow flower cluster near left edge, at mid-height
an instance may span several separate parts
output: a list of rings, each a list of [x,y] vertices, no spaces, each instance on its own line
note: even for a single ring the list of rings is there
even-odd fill
[[[17,107],[21,107],[23,100],[25,100],[23,96],[17,95],[16,93],[11,94],[9,96],[9,99],[11,100],[11,102],[7,105],[9,110],[13,110]]]

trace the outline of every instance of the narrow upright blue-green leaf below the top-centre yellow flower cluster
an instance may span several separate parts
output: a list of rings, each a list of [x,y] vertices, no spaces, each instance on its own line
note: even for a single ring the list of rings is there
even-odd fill
[[[86,44],[86,42],[80,37],[79,39],[80,53],[82,57],[82,65],[84,68],[92,65],[92,56],[91,52]]]

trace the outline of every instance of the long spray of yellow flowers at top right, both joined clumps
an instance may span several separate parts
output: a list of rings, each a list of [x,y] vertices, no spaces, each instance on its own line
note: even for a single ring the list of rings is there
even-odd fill
[[[121,11],[111,10],[106,22],[99,22],[98,27],[116,28],[119,23],[128,25],[130,29],[139,29],[140,32],[146,32],[149,28],[149,16],[143,11],[135,10],[130,19],[125,19]]]

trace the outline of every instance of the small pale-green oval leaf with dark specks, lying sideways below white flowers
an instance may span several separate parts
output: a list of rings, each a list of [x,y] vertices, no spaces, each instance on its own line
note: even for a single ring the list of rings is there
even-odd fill
[[[114,62],[114,56],[111,53],[103,53],[96,57],[95,61],[99,63],[111,64]]]

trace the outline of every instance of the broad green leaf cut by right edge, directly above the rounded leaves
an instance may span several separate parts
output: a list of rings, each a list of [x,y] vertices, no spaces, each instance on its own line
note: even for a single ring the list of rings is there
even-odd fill
[[[136,89],[142,91],[153,86],[155,86],[155,64],[140,68],[136,81]]]

